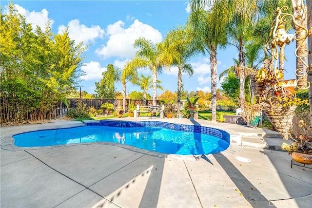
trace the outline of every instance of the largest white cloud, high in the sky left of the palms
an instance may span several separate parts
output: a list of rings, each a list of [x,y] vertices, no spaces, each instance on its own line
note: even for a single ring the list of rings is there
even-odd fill
[[[106,45],[96,50],[98,56],[103,59],[115,56],[128,59],[134,57],[136,49],[134,49],[133,44],[139,37],[144,37],[154,43],[162,40],[158,30],[137,19],[129,28],[124,28],[124,22],[121,20],[108,25],[106,35],[109,37]]]

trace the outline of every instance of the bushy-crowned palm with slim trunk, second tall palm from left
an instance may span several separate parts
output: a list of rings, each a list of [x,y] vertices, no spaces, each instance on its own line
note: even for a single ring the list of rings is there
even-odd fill
[[[181,90],[182,90],[182,73],[186,73],[189,77],[193,76],[194,70],[191,64],[186,61],[193,57],[196,53],[191,28],[187,25],[178,26],[176,29],[167,33],[162,42],[163,51],[172,65],[178,68],[177,76],[177,112],[180,112]]]

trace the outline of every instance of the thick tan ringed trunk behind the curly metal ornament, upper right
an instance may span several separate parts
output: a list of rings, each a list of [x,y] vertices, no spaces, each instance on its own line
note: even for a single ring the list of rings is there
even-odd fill
[[[292,0],[292,11],[293,16],[295,17],[296,24],[301,25],[304,28],[307,28],[307,5],[304,4],[303,0]],[[296,78],[297,78],[297,86],[298,88],[307,87],[307,67],[302,62],[304,61],[306,64],[308,63],[308,57],[306,57],[307,53],[307,41],[306,39],[302,39],[306,36],[305,30],[294,26],[296,30],[296,49],[297,49],[297,58],[296,58]],[[301,59],[299,57],[302,57]]]

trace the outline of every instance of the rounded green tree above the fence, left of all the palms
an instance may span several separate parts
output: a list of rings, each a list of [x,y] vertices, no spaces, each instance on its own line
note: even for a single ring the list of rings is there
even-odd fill
[[[102,72],[102,79],[96,82],[96,98],[115,98],[115,82],[120,80],[119,70],[113,64],[107,65],[107,70]]]

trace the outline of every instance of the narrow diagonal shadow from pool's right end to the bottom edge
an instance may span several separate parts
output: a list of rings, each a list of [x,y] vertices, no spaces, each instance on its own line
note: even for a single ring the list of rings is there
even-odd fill
[[[213,154],[215,160],[220,164],[220,166],[225,170],[231,180],[234,182],[236,187],[242,193],[243,197],[251,204],[253,207],[261,207],[258,202],[270,204],[270,201],[261,194],[261,192],[254,187],[254,185],[231,163],[231,161],[226,158],[221,152]]]

